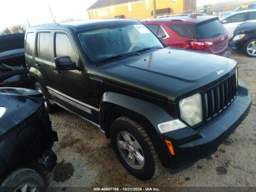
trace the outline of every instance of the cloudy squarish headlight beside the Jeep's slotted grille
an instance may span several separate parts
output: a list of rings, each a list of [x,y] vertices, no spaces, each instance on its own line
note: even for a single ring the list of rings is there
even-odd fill
[[[201,94],[197,93],[180,101],[180,116],[191,126],[202,122]]]

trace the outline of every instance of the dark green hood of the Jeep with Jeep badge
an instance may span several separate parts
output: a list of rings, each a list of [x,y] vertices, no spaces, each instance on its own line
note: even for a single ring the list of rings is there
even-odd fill
[[[176,102],[179,96],[204,90],[228,77],[235,67],[236,61],[221,56],[164,48],[103,64],[90,72],[108,84]],[[220,70],[223,73],[218,75]]]

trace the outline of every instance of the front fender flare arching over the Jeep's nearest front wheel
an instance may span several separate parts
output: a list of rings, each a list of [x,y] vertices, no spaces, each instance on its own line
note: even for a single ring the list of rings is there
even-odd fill
[[[158,124],[172,120],[172,116],[164,109],[150,102],[123,94],[105,92],[100,101],[99,122],[101,130],[105,132],[107,138],[110,138],[112,122],[122,115],[135,120],[143,126],[163,166],[174,166],[174,161],[170,156],[164,138],[158,130]],[[107,123],[108,120],[110,122]]]

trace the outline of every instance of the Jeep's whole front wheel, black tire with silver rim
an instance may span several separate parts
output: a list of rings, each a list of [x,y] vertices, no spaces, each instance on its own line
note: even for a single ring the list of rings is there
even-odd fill
[[[124,139],[127,136],[126,134],[130,136],[133,142],[128,148],[127,145],[129,142],[126,142]],[[110,138],[118,160],[136,178],[150,180],[162,171],[162,164],[148,134],[134,120],[125,116],[116,119],[111,126]],[[138,146],[141,150],[137,150],[139,149]],[[135,158],[130,158],[132,156],[135,156]],[[135,159],[135,162],[133,159]]]

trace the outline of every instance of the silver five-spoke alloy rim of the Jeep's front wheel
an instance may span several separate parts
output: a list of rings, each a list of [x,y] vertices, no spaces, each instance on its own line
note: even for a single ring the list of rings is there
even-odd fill
[[[128,132],[121,131],[116,136],[118,150],[124,160],[135,169],[142,169],[145,164],[142,148]]]

